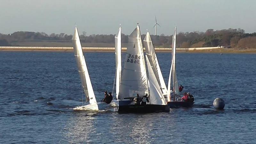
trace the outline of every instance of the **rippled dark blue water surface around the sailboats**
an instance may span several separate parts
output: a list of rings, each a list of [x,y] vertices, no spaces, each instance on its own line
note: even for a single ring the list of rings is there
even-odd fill
[[[167,83],[170,53],[157,53]],[[112,91],[114,52],[86,52],[97,100]],[[0,143],[255,143],[256,55],[177,54],[193,108],[88,113],[72,52],[0,52]],[[216,97],[225,100],[216,110]],[[83,98],[84,100],[84,98]]]

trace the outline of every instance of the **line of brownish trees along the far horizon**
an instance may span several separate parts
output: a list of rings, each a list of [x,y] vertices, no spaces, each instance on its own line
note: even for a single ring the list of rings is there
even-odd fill
[[[82,32],[80,40],[83,43],[115,43],[115,35],[90,35]],[[141,35],[142,40],[145,35]],[[12,45],[13,42],[21,41],[54,41],[54,42],[71,42],[72,35],[65,33],[50,35],[44,32],[27,32],[18,31],[12,34],[0,33],[0,46],[18,46]],[[170,47],[172,45],[172,36],[164,34],[151,35],[155,47]],[[128,43],[128,35],[122,34],[122,43]],[[180,48],[188,47],[213,47],[225,46],[227,48],[256,48],[256,32],[245,33],[243,29],[208,29],[205,32],[180,32],[176,36],[176,46]]]

